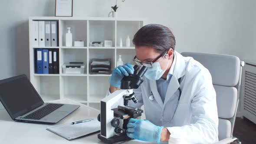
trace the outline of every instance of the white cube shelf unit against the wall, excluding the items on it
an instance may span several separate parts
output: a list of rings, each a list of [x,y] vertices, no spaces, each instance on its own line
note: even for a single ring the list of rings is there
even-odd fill
[[[32,21],[56,20],[58,22],[58,44],[55,47],[33,47]],[[44,101],[70,98],[84,105],[99,109],[100,100],[105,97],[109,88],[108,79],[111,75],[93,75],[89,72],[92,58],[110,58],[111,69],[122,55],[124,63],[134,64],[135,47],[132,44],[134,34],[144,26],[141,18],[106,18],[106,17],[30,17],[30,81]],[[66,47],[65,36],[67,27],[71,27],[73,44]],[[126,37],[130,36],[131,47],[126,47]],[[123,47],[119,47],[122,38]],[[84,47],[75,47],[74,41],[82,40]],[[112,40],[112,47],[104,47],[104,40]],[[100,41],[103,47],[90,47],[89,43]],[[59,49],[59,74],[36,74],[34,72],[34,49]],[[64,74],[62,65],[65,62],[84,62],[84,74]]]

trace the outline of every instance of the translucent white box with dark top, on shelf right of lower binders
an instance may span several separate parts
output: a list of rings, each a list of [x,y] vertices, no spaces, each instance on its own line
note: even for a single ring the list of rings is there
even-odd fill
[[[64,74],[84,74],[85,64],[83,62],[64,63],[62,69]]]

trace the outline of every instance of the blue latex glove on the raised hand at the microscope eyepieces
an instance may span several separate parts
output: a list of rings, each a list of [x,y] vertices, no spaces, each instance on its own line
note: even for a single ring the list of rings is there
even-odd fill
[[[109,79],[110,85],[120,88],[121,87],[121,79],[129,74],[133,74],[134,69],[131,64],[126,63],[125,65],[119,65],[112,71],[112,75]]]

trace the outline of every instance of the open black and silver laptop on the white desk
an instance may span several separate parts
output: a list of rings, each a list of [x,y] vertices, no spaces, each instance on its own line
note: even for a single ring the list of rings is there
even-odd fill
[[[26,75],[0,80],[0,101],[14,121],[55,124],[80,105],[45,103]]]

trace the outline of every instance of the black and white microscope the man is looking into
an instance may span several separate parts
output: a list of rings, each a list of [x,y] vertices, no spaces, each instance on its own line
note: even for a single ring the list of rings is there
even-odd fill
[[[138,102],[133,89],[137,89],[141,85],[142,76],[148,68],[142,66],[139,70],[138,65],[133,68],[134,74],[124,76],[121,80],[121,89],[101,100],[101,113],[98,115],[101,132],[98,134],[98,139],[107,144],[131,140],[126,135],[128,121],[130,118],[138,118],[143,113],[141,109],[129,107],[128,101]]]

